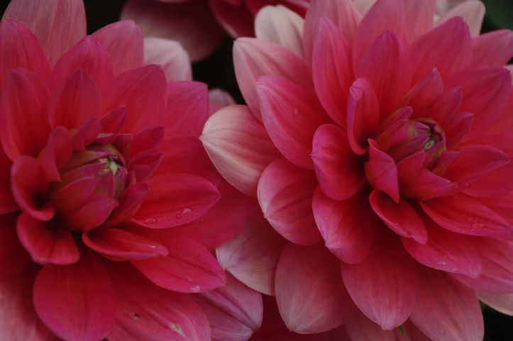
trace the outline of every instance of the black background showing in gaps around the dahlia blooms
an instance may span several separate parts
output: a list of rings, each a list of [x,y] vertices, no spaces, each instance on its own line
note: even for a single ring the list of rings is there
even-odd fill
[[[88,33],[117,21],[125,1],[84,0]],[[483,2],[487,9],[485,23],[482,27],[483,32],[498,28],[513,29],[513,0],[483,0]],[[4,13],[8,4],[9,0],[0,0],[0,13]],[[209,88],[221,87],[228,90],[238,102],[242,102],[233,74],[231,45],[232,40],[226,37],[209,58],[192,65],[192,71],[194,80],[205,82]],[[497,313],[487,307],[483,309],[483,315],[485,317],[485,341],[513,340],[513,317]]]

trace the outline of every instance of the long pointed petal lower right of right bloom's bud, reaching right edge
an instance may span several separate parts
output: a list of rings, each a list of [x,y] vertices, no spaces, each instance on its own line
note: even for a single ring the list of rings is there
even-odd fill
[[[441,227],[473,236],[507,236],[512,225],[479,200],[459,194],[422,201],[424,212]]]

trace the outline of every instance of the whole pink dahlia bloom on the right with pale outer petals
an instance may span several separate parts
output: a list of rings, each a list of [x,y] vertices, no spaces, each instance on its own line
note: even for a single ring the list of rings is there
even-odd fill
[[[435,5],[312,1],[281,45],[236,40],[248,107],[201,139],[287,242],[255,221],[217,254],[288,330],[482,340],[478,298],[512,311],[513,33],[479,35],[479,1]]]

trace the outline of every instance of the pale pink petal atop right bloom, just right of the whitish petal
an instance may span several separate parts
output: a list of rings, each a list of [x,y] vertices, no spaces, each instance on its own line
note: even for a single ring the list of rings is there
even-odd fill
[[[361,14],[351,0],[313,1],[304,20],[303,48],[307,60],[311,61],[314,40],[316,39],[319,18],[327,18],[338,28],[346,41],[351,43],[360,21]]]

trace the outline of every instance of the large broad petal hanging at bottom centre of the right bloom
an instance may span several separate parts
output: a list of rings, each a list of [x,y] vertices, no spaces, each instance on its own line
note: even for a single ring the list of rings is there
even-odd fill
[[[417,266],[389,232],[375,237],[369,256],[360,264],[342,264],[349,295],[370,320],[393,329],[407,320],[415,305]]]

